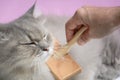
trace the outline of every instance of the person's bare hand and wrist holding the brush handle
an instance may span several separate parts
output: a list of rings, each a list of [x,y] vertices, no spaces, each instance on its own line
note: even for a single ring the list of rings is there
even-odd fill
[[[78,39],[80,45],[90,39],[102,38],[120,27],[120,6],[79,8],[66,22],[65,27],[67,41],[70,41],[81,27],[88,27]]]

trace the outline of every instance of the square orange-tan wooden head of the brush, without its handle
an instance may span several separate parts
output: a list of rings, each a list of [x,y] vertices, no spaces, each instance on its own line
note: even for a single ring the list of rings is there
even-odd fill
[[[56,41],[55,50],[58,49],[58,46],[60,47],[60,44]],[[57,80],[67,80],[82,70],[69,54],[60,59],[51,56],[47,61],[47,65]]]

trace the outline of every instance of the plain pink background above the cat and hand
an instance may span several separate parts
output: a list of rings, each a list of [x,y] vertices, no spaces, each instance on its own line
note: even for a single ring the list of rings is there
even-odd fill
[[[10,22],[23,15],[35,0],[0,0],[0,23]],[[37,6],[45,15],[71,16],[83,5],[120,6],[120,0],[37,0]]]

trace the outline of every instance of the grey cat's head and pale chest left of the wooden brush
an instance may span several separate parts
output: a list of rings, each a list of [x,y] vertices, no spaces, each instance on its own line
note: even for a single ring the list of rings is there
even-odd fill
[[[45,61],[52,53],[53,39],[42,16],[33,6],[22,17],[0,25],[0,80],[49,80]]]

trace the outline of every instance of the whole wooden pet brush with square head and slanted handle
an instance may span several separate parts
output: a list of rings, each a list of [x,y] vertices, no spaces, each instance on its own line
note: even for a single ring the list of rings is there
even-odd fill
[[[80,29],[75,34],[74,38],[62,48],[60,48],[61,45],[57,40],[54,41],[55,42],[54,54],[57,55],[58,57],[63,56],[63,58],[56,59],[54,56],[51,56],[47,61],[47,65],[57,80],[68,80],[73,75],[77,74],[78,72],[81,72],[82,69],[80,65],[74,61],[74,59],[68,54],[68,51],[86,29],[87,29],[86,27]]]

